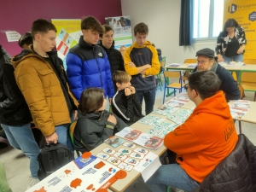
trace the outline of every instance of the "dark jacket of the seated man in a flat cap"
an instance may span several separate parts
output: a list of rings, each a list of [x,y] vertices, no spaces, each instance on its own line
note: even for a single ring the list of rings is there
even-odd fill
[[[217,63],[216,74],[218,79],[220,79],[221,84],[218,90],[223,90],[226,100],[237,100],[240,99],[240,90],[238,89],[236,80],[232,77],[231,73],[226,70],[224,67],[221,67]],[[196,72],[197,67],[195,67],[193,72]]]

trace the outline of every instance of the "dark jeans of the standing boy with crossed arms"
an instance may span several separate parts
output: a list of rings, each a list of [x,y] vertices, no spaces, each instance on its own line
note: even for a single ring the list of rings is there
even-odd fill
[[[146,115],[153,112],[154,100],[155,100],[156,87],[151,90],[137,90],[137,99],[143,105],[143,97],[145,100],[145,111]]]

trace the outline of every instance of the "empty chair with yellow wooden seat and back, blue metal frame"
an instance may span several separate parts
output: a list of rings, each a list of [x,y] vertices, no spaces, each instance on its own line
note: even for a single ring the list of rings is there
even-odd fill
[[[164,87],[164,97],[163,97],[163,103],[165,103],[166,98],[166,89],[173,89],[174,90],[174,96],[176,96],[176,90],[180,93],[184,87],[183,81],[180,79],[182,78],[182,71],[177,70],[170,70],[170,71],[164,71],[164,77],[165,77],[165,87]],[[172,82],[169,84],[170,78],[177,79],[176,82]]]

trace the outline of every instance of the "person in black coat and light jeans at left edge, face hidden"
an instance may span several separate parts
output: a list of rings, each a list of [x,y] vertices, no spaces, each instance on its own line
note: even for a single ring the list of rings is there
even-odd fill
[[[32,115],[15,81],[10,56],[0,45],[0,117],[1,126],[11,146],[21,150],[30,159],[32,182],[38,183],[38,154],[40,149],[30,127]]]

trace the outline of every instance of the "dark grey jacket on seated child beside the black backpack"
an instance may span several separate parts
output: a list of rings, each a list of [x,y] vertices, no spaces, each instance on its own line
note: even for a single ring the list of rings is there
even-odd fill
[[[90,151],[127,126],[115,114],[113,115],[117,125],[108,122],[109,114],[106,110],[85,115],[79,111],[79,119],[73,131],[73,144],[76,150],[82,153]]]

